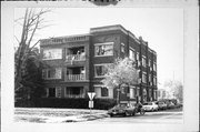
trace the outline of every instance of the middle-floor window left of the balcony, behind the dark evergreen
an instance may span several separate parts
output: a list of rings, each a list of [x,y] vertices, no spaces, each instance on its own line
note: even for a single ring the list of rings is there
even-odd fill
[[[42,70],[42,79],[61,79],[62,77],[62,69],[43,69]]]

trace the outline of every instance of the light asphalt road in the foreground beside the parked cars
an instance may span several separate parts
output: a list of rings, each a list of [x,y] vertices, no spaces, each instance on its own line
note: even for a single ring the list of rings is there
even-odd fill
[[[89,123],[89,122],[88,122]],[[139,113],[134,116],[113,116],[90,121],[90,123],[183,123],[182,111],[158,111]]]

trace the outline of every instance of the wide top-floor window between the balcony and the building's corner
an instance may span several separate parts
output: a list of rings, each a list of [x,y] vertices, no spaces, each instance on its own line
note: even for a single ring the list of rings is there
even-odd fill
[[[97,43],[94,49],[96,57],[113,55],[113,42]]]

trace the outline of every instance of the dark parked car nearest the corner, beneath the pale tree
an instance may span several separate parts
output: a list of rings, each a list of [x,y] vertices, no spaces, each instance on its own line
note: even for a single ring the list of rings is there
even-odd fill
[[[120,103],[116,106],[113,106],[112,109],[108,110],[108,114],[110,116],[113,115],[134,115],[137,112],[137,109],[134,106],[134,104],[131,103]]]

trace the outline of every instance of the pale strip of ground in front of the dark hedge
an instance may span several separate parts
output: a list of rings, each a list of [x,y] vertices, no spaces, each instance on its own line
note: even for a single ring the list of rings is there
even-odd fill
[[[82,122],[108,118],[104,110],[16,108],[14,121],[37,123]]]

